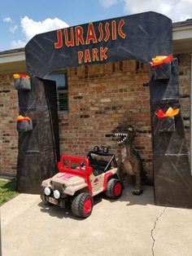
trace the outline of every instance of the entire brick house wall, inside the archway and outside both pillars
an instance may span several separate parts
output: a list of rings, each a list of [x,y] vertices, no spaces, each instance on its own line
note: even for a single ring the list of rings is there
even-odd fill
[[[177,55],[181,107],[185,132],[190,136],[190,55]],[[68,113],[59,113],[61,153],[85,156],[94,145],[110,146],[119,155],[116,141],[107,134],[127,120],[137,130],[134,146],[143,166],[152,175],[149,66],[135,61],[68,69]],[[0,172],[15,172],[17,159],[17,93],[12,74],[0,75]]]

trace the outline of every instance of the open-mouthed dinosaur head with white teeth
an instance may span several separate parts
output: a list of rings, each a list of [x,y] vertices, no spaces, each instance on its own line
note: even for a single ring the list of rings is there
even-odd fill
[[[118,138],[117,143],[119,145],[131,143],[136,135],[133,126],[130,126],[128,123],[122,123],[120,126],[116,126],[116,128],[112,130],[111,133]]]

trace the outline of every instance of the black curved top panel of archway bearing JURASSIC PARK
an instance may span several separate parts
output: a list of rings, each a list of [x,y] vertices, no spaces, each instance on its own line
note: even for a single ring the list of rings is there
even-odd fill
[[[172,21],[155,12],[37,34],[25,46],[28,75],[122,60],[150,63],[172,53]]]

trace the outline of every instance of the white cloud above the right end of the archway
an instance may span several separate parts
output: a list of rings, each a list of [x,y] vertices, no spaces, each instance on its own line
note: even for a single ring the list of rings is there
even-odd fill
[[[173,22],[192,18],[192,0],[101,0],[103,7],[116,2],[124,2],[125,14],[137,14],[144,11],[156,11],[167,15]]]

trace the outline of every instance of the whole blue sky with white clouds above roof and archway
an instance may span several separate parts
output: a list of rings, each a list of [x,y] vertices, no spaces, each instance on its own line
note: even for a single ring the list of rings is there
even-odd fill
[[[192,19],[192,0],[2,0],[0,51],[24,47],[37,33],[144,11]]]

